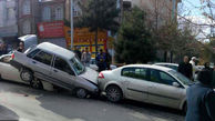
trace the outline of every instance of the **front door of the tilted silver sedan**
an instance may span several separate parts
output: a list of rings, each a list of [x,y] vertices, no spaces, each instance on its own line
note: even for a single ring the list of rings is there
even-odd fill
[[[54,83],[66,89],[72,89],[76,79],[70,64],[60,57],[54,58],[51,75],[54,78]]]

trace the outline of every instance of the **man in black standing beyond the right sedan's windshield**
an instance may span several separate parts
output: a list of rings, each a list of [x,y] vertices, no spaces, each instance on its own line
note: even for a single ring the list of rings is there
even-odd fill
[[[184,57],[184,61],[180,63],[178,65],[178,72],[184,74],[186,78],[192,80],[193,73],[192,73],[192,64],[188,63],[188,57]]]

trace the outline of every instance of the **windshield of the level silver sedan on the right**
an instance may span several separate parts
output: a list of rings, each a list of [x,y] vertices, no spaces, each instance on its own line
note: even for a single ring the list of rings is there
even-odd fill
[[[180,72],[175,71],[175,70],[171,70],[168,71],[171,74],[173,74],[174,77],[176,77],[183,84],[191,84],[192,81],[190,79],[187,79],[185,75],[181,74]]]

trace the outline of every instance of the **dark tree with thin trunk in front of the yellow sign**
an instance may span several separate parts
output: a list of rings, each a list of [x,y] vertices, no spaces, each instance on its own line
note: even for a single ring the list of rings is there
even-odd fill
[[[85,4],[80,3],[82,16],[75,23],[75,27],[90,28],[95,32],[95,51],[98,53],[98,32],[112,31],[115,33],[119,29],[116,21],[120,10],[116,9],[116,0],[89,0]]]

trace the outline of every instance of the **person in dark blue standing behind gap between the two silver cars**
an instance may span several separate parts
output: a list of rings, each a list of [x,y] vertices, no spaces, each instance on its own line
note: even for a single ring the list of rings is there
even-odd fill
[[[96,65],[99,67],[99,72],[103,71],[106,69],[106,56],[103,52],[102,49],[100,49],[100,53],[96,56],[95,61],[96,61]]]

